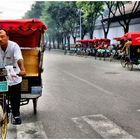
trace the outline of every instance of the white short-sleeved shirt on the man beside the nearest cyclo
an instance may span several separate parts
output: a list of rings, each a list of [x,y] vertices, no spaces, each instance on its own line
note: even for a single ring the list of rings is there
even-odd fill
[[[9,66],[12,65],[16,74],[20,72],[20,68],[17,64],[19,59],[23,59],[19,45],[16,42],[8,41],[6,51],[3,51],[0,46],[0,65]],[[14,76],[12,81],[9,81],[9,86],[21,83],[21,76]]]

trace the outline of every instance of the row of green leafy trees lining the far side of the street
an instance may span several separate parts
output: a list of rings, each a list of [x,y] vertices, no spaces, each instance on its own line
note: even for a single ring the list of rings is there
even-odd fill
[[[47,39],[49,42],[57,41],[59,45],[70,44],[70,36],[74,42],[79,36],[81,20],[81,39],[86,34],[93,38],[97,19],[102,23],[104,36],[107,37],[109,27],[114,17],[124,29],[129,31],[129,24],[138,11],[140,2],[135,2],[128,16],[126,3],[119,1],[36,1],[31,10],[27,11],[23,18],[40,18],[48,27]],[[81,13],[79,13],[81,12]],[[113,15],[113,16],[112,16]]]

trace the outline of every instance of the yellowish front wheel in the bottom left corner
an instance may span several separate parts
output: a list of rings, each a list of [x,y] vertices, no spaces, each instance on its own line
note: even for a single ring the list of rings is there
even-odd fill
[[[6,138],[7,128],[8,128],[8,116],[6,114],[5,117],[4,117],[4,120],[1,121],[1,126],[0,126],[1,139]]]

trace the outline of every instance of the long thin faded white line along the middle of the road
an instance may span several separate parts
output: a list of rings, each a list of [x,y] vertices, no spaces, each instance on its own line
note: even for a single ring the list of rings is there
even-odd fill
[[[85,80],[85,79],[83,79],[83,78],[80,78],[80,77],[78,77],[78,76],[76,76],[76,75],[74,75],[74,74],[72,74],[72,73],[70,73],[70,72],[67,72],[67,71],[63,71],[63,72],[66,73],[67,75],[72,76],[72,77],[75,78],[75,79],[78,79],[78,80],[80,80],[80,81],[82,81],[82,82],[84,82],[84,83],[86,83],[86,84],[88,84],[88,85],[90,85],[90,86],[92,86],[92,87],[94,87],[94,88],[96,88],[96,89],[98,89],[98,90],[100,90],[100,91],[106,93],[106,94],[113,95],[112,92],[110,92],[110,91],[108,91],[108,90],[106,90],[106,89],[104,89],[104,88],[101,88],[100,86],[98,86],[98,85],[96,85],[96,84],[94,84],[94,83],[91,83],[91,82],[89,82],[89,81],[87,81],[87,80]]]

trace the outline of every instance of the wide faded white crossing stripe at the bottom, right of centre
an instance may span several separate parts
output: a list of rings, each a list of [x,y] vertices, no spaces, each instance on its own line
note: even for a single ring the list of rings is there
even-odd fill
[[[95,130],[105,139],[134,138],[132,135],[127,133],[125,130],[123,130],[121,127],[119,127],[117,124],[115,124],[102,114],[72,118],[73,122],[76,123],[77,127],[79,127],[84,132],[84,126],[83,124],[80,124],[81,121],[79,121],[81,119],[83,119],[87,124],[91,126],[93,130]]]

